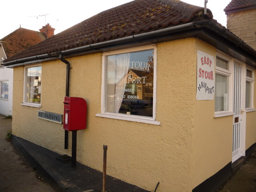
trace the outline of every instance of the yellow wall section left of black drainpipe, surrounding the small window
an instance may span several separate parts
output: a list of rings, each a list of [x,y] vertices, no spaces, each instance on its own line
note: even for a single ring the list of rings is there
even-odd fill
[[[42,65],[42,108],[22,106],[24,67],[14,68],[12,134],[54,150],[64,152],[63,125],[39,119],[38,110],[63,114],[66,64],[46,62]]]

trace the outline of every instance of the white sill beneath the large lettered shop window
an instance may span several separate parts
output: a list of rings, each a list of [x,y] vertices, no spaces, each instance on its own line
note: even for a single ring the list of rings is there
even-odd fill
[[[126,120],[126,121],[133,121],[133,122],[160,125],[160,121],[156,121],[156,120],[149,119],[149,118],[144,118],[144,117],[122,116],[122,115],[112,115],[112,114],[96,114],[96,116],[97,117],[111,118],[111,119],[119,119],[119,120]]]

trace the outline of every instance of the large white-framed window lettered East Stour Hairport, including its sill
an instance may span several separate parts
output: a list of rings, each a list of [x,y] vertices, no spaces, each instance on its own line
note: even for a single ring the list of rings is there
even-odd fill
[[[155,121],[155,51],[150,46],[104,54],[102,113],[96,116],[160,124]]]

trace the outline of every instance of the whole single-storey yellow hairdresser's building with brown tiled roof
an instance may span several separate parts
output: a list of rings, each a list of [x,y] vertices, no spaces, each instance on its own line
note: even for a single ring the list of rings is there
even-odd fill
[[[158,182],[157,192],[212,192],[256,144],[256,51],[209,9],[134,0],[4,65],[14,68],[14,139],[70,156],[63,102],[83,98],[78,162],[102,171],[108,145],[108,174],[151,192]]]

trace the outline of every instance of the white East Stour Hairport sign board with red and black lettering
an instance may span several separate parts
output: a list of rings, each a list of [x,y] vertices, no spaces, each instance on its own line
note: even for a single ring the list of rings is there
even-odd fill
[[[213,100],[215,91],[214,57],[197,51],[196,100]]]

